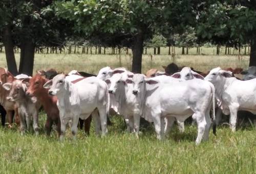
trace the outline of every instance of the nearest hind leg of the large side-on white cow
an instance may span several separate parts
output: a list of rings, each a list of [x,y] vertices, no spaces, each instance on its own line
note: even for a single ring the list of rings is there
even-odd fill
[[[204,130],[206,126],[205,116],[202,113],[195,113],[197,119],[198,133],[196,139],[196,145],[201,143],[202,137],[204,135]]]

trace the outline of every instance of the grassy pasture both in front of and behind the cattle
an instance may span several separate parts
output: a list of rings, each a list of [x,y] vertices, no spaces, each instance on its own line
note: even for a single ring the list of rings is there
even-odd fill
[[[16,55],[18,61],[18,55]],[[120,61],[121,60],[121,61]],[[172,61],[168,55],[143,55],[143,72]],[[221,66],[248,66],[248,57],[177,55],[179,66],[190,66],[207,72]],[[0,54],[0,66],[6,65]],[[105,66],[131,68],[129,55],[36,54],[35,70],[54,68],[69,72],[77,69],[97,73]],[[40,132],[21,136],[17,127],[0,128],[0,173],[256,173],[256,125],[238,126],[232,133],[228,127],[217,127],[217,137],[210,131],[209,141],[195,145],[197,127],[185,126],[179,133],[175,126],[163,141],[156,139],[154,127],[142,129],[140,139],[125,132],[122,118],[112,116],[113,125],[104,138],[96,137],[92,122],[91,135],[79,130],[77,140],[59,142],[56,132],[44,134],[46,115],[40,113]]]

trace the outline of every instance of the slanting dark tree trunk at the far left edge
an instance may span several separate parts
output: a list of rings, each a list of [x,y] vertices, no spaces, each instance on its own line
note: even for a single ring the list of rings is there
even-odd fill
[[[13,41],[12,41],[10,26],[6,26],[4,28],[3,42],[4,42],[4,46],[5,46],[5,55],[6,55],[8,70],[13,75],[17,75],[18,70],[17,70],[17,64],[15,61],[15,55],[14,55],[14,51],[13,51],[14,45],[13,45]]]

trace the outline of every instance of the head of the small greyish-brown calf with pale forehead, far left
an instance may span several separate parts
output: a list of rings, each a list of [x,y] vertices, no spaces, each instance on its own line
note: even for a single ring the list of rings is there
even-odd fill
[[[27,84],[23,83],[22,80],[15,80],[12,83],[5,83],[4,89],[10,91],[6,97],[9,101],[16,101],[22,97],[25,97],[27,91]]]

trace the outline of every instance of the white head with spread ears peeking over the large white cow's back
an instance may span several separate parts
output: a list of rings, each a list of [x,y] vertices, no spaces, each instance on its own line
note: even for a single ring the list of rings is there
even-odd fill
[[[191,80],[191,79],[194,79],[194,78],[204,79],[204,77],[202,75],[194,72],[189,67],[184,67],[180,72],[174,73],[172,75],[172,77],[181,78],[181,79],[184,79],[184,80]]]

